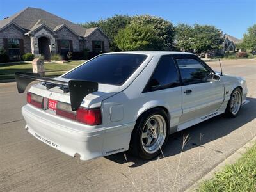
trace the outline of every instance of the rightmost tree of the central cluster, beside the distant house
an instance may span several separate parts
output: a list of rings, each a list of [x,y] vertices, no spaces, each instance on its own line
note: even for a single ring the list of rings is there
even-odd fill
[[[223,36],[220,29],[215,26],[195,24],[194,28],[194,44],[193,48],[198,52],[207,52],[214,49],[220,49],[223,44]]]

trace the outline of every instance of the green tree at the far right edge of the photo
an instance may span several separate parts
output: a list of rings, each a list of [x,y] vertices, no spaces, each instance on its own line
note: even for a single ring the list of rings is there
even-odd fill
[[[244,49],[256,51],[256,24],[247,29],[247,33],[244,34],[241,47]]]

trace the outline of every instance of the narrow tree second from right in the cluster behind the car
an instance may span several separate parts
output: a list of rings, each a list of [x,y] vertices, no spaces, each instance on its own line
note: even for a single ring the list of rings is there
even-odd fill
[[[193,27],[188,24],[178,24],[175,28],[175,44],[180,51],[190,51],[193,49]]]

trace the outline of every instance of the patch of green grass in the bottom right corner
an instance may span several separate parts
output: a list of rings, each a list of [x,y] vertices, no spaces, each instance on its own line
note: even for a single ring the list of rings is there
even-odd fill
[[[198,191],[256,191],[256,143],[235,164],[203,182]]]

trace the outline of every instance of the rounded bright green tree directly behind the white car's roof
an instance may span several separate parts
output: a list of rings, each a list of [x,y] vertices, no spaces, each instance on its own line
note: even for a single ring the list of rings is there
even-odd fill
[[[156,50],[161,41],[149,25],[131,24],[118,32],[115,42],[121,51]]]

